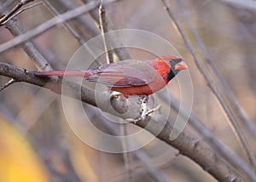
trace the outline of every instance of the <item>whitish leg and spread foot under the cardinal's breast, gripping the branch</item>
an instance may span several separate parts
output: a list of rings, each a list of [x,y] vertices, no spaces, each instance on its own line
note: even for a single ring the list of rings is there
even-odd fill
[[[140,122],[143,121],[146,117],[148,117],[148,115],[152,114],[154,111],[157,111],[160,109],[160,105],[158,105],[157,107],[155,107],[152,110],[148,110],[148,95],[143,95],[143,97],[140,99],[141,102],[141,112],[140,112],[140,117],[138,117],[137,119],[125,119],[127,122]]]

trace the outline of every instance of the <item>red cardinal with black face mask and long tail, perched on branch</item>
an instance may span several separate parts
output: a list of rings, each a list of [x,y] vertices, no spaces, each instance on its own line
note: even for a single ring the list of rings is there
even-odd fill
[[[166,55],[155,60],[119,61],[87,71],[34,71],[34,74],[38,77],[86,77],[86,80],[105,84],[128,98],[130,95],[148,96],[157,92],[164,88],[178,71],[187,68],[181,58]]]

